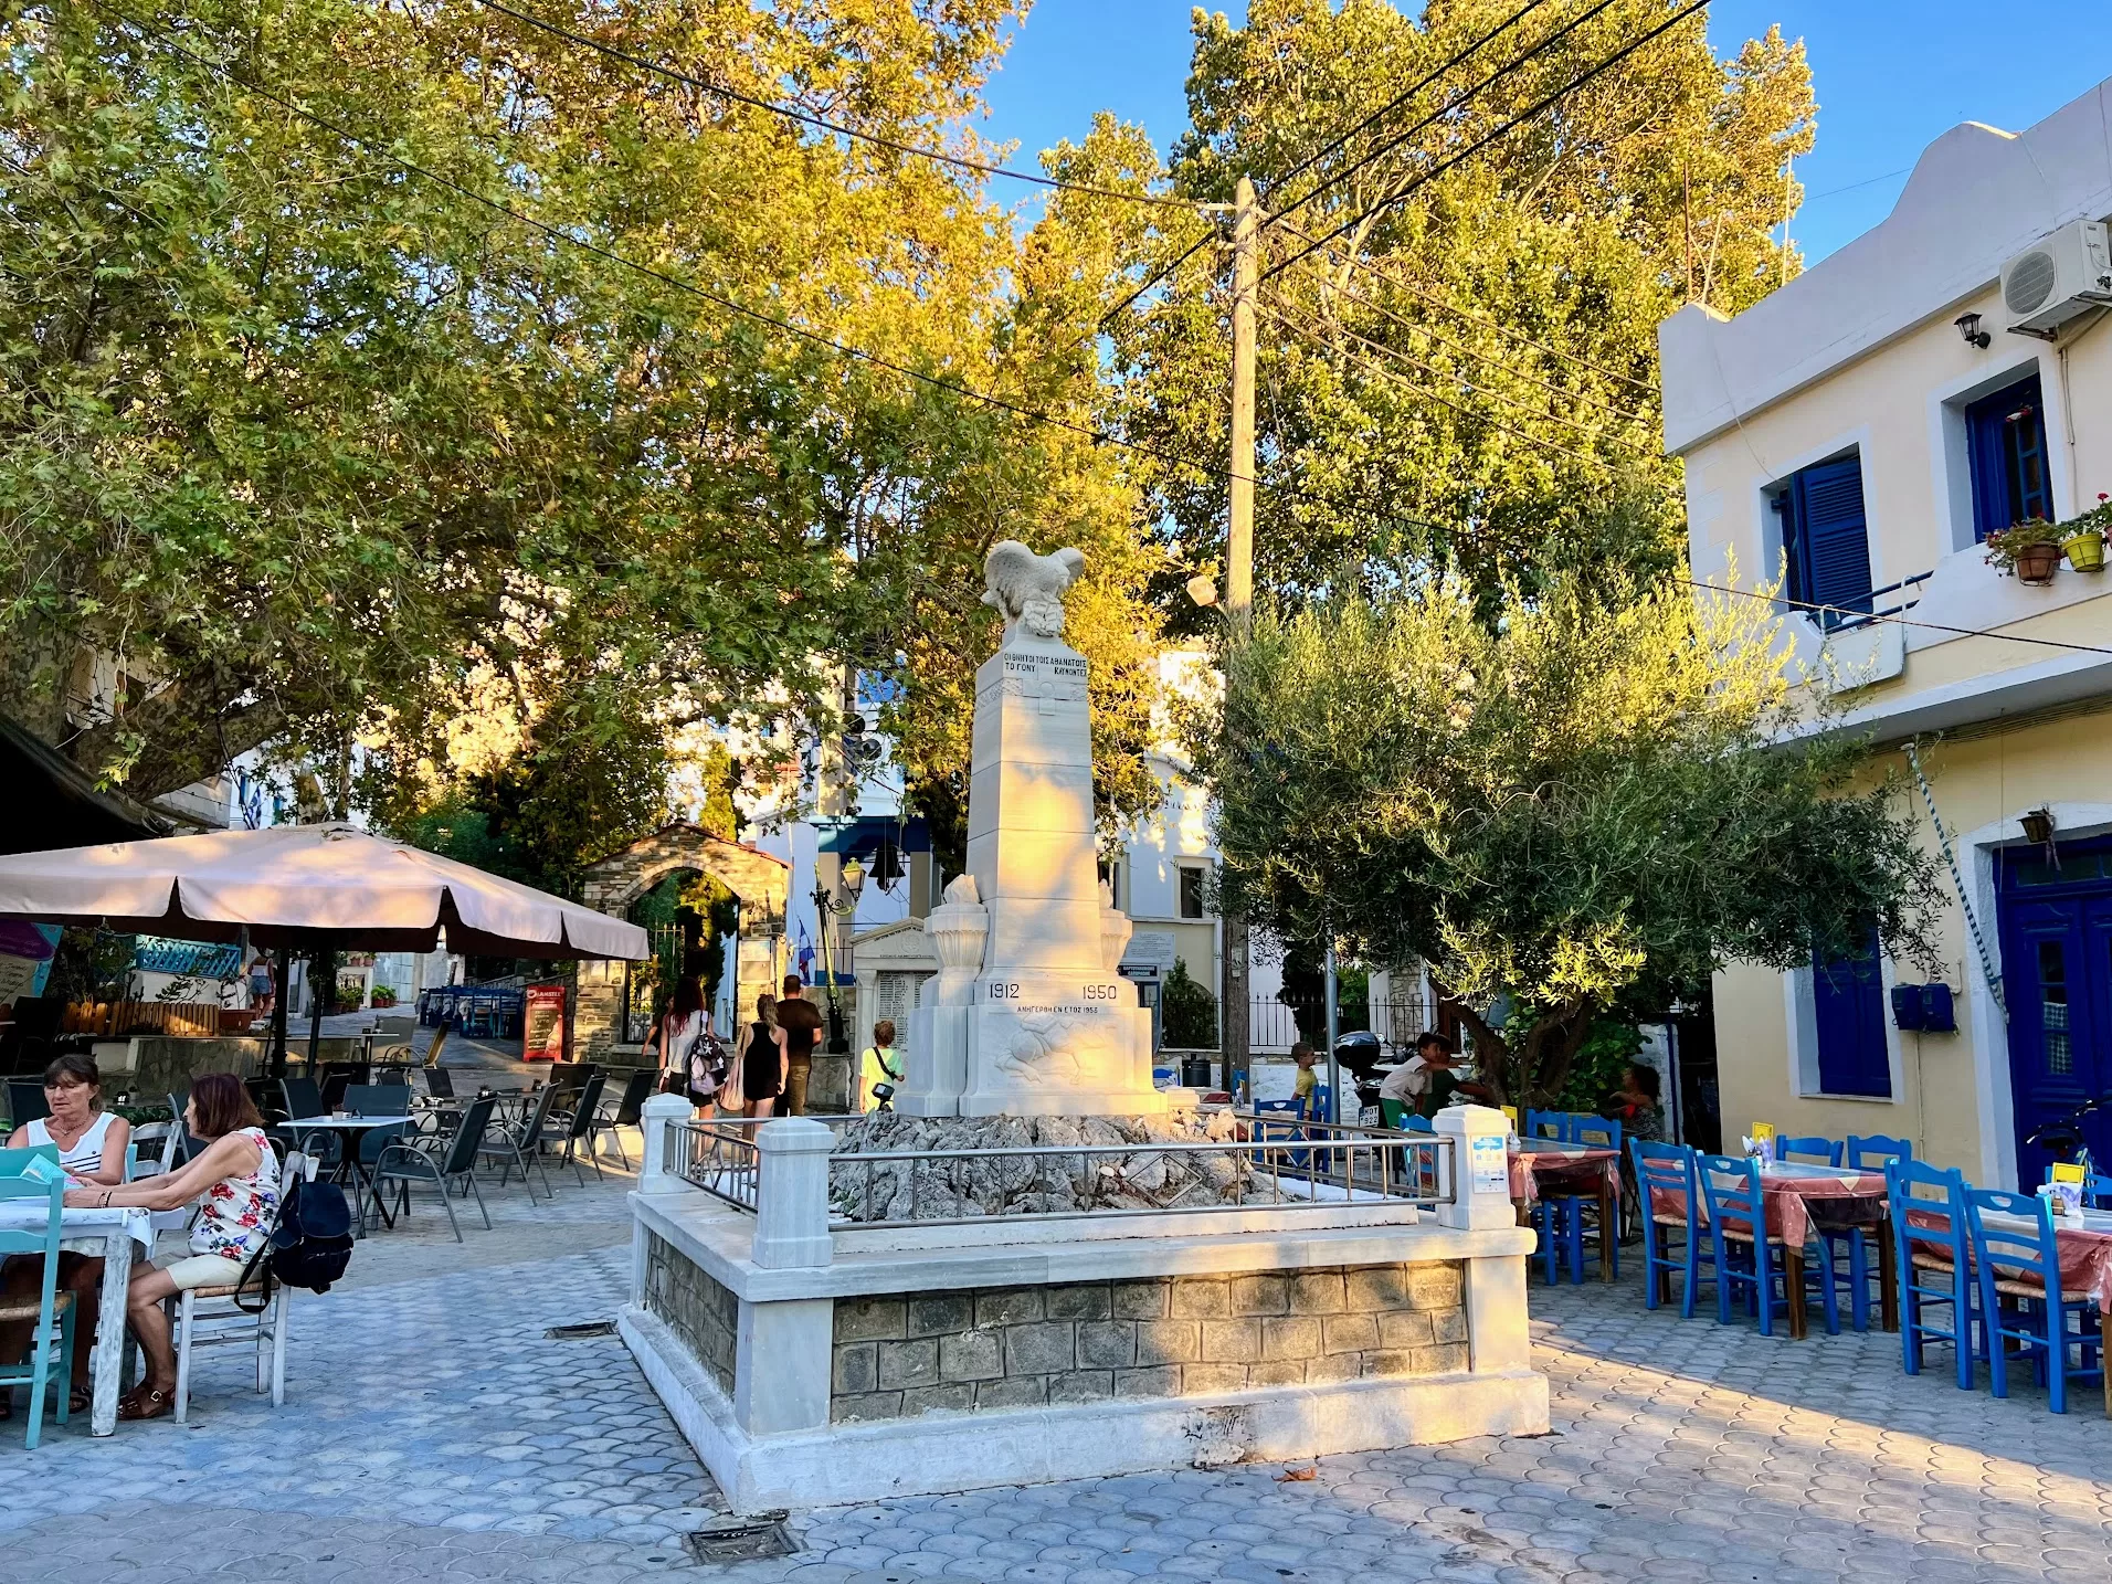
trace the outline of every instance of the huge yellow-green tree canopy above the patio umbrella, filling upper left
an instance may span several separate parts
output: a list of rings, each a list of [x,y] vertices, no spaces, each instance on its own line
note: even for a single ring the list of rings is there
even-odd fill
[[[1050,355],[1090,325],[980,173],[754,103],[986,156],[1010,0],[532,11],[606,51],[471,0],[8,8],[0,708],[142,796],[355,735],[439,796],[465,716],[503,762],[826,718],[855,663],[942,784],[1022,536],[1088,551],[1136,805],[1126,484],[963,393],[1092,418]]]

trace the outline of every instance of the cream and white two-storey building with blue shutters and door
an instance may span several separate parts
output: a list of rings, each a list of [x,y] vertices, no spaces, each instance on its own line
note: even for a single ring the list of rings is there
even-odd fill
[[[2112,579],[2087,547],[2047,583],[1985,553],[2112,494],[2108,215],[2112,82],[2021,133],[1951,129],[1884,224],[1736,319],[1687,306],[1658,332],[1694,574],[1833,606],[1787,617],[1806,686],[1844,710],[1827,729],[1884,743],[1930,849],[1930,800],[1949,836],[1956,1031],[1901,1026],[1930,997],[1901,1018],[1920,974],[1880,953],[1732,967],[1730,1140],[1905,1136],[1981,1185],[2036,1183],[2025,1134],[2112,1092]],[[2089,1128],[2112,1162],[2112,1107]]]

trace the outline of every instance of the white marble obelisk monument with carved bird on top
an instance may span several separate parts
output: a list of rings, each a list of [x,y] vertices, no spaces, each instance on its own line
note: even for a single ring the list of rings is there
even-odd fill
[[[1166,1109],[1151,1014],[1115,972],[1130,927],[1100,893],[1086,657],[1062,642],[1083,564],[1016,541],[984,564],[1005,638],[976,672],[967,874],[925,921],[940,974],[910,1014],[910,1115]]]

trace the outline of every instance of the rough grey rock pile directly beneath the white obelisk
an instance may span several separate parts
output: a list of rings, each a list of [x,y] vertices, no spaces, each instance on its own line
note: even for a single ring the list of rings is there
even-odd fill
[[[1227,1143],[1229,1113],[1210,1117],[906,1117],[895,1111],[843,1128],[830,1157],[830,1212],[864,1221],[1079,1210],[1189,1210],[1246,1204],[1255,1187],[1244,1149],[1166,1151],[1153,1145]],[[978,1151],[1083,1147],[1079,1155]],[[857,1166],[857,1155],[938,1151],[946,1159]],[[1252,1195],[1267,1202],[1271,1195]]]

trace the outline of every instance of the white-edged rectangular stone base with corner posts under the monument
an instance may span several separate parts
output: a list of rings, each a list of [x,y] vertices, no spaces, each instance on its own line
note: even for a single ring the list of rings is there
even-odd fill
[[[832,1225],[824,1124],[767,1124],[714,1176],[686,1115],[648,1102],[619,1328],[735,1510],[1548,1428],[1500,1113],[1442,1115],[1432,1208],[1307,1189],[927,1227]]]

